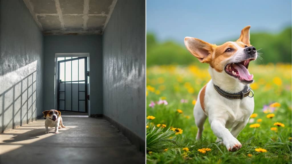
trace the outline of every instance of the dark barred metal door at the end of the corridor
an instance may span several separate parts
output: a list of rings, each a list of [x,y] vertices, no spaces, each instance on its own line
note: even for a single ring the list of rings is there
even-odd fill
[[[58,58],[58,110],[88,112],[87,57],[62,59]]]

